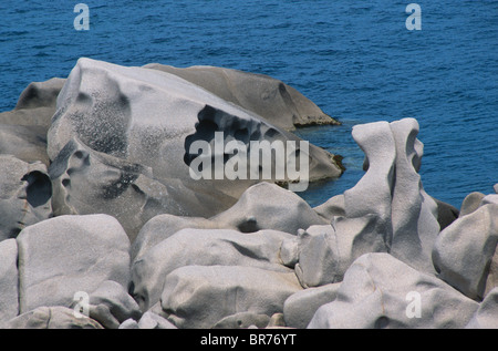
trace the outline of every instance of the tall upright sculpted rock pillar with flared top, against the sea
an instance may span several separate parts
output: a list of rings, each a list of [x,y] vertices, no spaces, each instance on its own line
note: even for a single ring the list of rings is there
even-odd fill
[[[424,190],[417,173],[423,144],[418,123],[404,118],[353,128],[369,168],[344,192],[347,217],[376,214],[388,252],[423,271],[433,272],[430,254],[439,233],[437,205]],[[363,195],[362,195],[363,194]]]

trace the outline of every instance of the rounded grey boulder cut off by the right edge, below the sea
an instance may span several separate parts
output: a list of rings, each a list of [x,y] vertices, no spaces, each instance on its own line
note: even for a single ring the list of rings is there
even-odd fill
[[[434,246],[438,276],[471,299],[498,287],[498,205],[484,205],[443,230]]]

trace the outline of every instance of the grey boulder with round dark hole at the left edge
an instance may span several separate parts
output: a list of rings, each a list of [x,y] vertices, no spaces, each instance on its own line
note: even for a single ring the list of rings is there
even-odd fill
[[[52,216],[52,184],[46,166],[0,155],[0,241]]]

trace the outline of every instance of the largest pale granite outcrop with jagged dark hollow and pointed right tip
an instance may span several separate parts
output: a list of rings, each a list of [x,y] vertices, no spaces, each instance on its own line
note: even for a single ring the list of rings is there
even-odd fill
[[[106,213],[123,224],[132,240],[155,215],[219,214],[260,177],[191,177],[189,166],[199,157],[191,147],[216,142],[217,132],[222,133],[221,147],[235,141],[248,149],[258,141],[301,142],[177,75],[81,59],[58,96],[48,132],[54,213]],[[309,158],[309,174],[300,180],[342,174],[333,155],[313,145],[307,148],[294,151]],[[224,167],[230,155],[221,151],[219,156]],[[89,178],[92,184],[85,183]],[[274,174],[268,180],[286,183],[289,177]]]

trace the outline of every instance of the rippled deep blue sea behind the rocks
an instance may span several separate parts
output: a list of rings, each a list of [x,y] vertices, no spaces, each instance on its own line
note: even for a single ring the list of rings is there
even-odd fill
[[[2,0],[0,111],[33,81],[66,78],[81,56],[123,65],[217,65],[274,76],[342,126],[297,134],[344,156],[346,172],[301,194],[312,206],[363,176],[352,126],[415,117],[426,192],[459,207],[498,183],[498,1],[97,1],[90,30],[73,27],[80,1]]]

